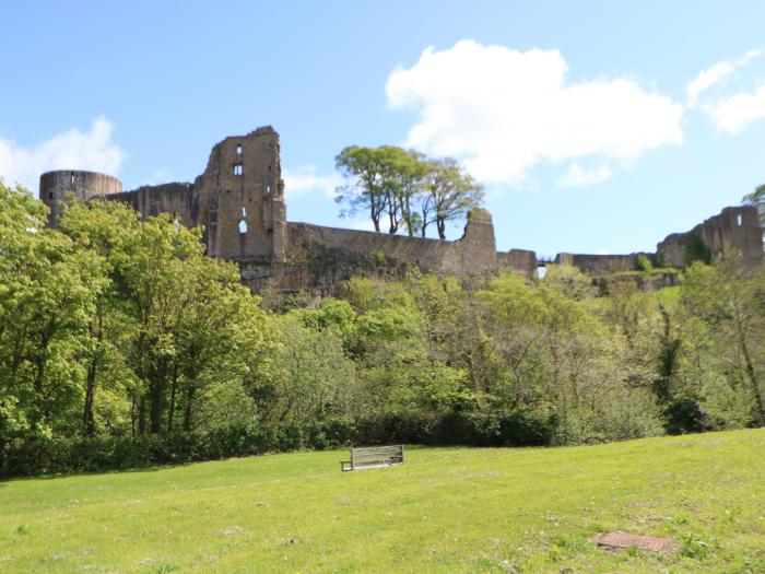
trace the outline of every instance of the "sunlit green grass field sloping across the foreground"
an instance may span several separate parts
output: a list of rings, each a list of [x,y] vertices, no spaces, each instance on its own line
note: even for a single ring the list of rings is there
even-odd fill
[[[0,572],[765,572],[765,430],[0,482]],[[679,552],[610,552],[603,530]]]

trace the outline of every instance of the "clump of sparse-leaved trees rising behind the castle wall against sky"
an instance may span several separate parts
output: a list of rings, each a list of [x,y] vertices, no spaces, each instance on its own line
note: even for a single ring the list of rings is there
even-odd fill
[[[431,159],[395,145],[350,145],[336,157],[346,184],[338,189],[341,215],[367,213],[375,231],[425,237],[434,226],[446,238],[449,222],[483,200],[481,186],[458,162]]]

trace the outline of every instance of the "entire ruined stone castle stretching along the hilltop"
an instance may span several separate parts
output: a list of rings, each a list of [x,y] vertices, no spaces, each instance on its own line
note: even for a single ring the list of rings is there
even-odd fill
[[[215,144],[204,173],[191,183],[142,186],[122,191],[119,179],[83,171],[40,176],[39,197],[56,225],[68,194],[80,200],[105,198],[130,204],[142,216],[169,213],[181,224],[202,226],[207,253],[238,263],[242,280],[254,291],[272,282],[281,291],[331,292],[358,272],[390,272],[419,267],[436,274],[487,276],[509,268],[534,277],[542,261],[534,251],[496,250],[491,214],[468,214],[464,234],[449,242],[376,232],[294,223],[286,219],[279,134],[271,127],[233,136]],[[754,207],[726,208],[687,233],[669,235],[655,254],[558,254],[555,262],[592,276],[637,269],[645,255],[682,267],[688,238],[698,237],[711,255],[738,250],[743,263],[763,261],[763,230]]]

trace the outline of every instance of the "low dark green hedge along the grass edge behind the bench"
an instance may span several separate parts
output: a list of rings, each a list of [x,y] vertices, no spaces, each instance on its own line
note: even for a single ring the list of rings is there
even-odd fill
[[[307,424],[231,423],[164,436],[19,440],[7,445],[0,478],[123,470],[348,445],[537,446],[550,444],[554,427],[554,419],[522,412],[414,411]]]

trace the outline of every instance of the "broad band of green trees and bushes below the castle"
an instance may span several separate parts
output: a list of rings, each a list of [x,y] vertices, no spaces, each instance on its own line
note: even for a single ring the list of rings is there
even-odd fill
[[[273,300],[199,230],[126,206],[60,227],[0,185],[0,473],[332,445],[579,444],[765,425],[765,271],[695,261],[682,286],[353,278]]]

